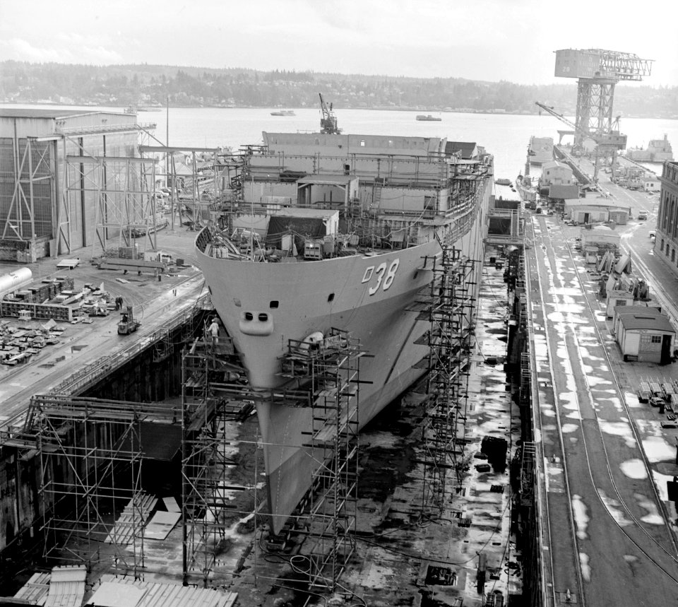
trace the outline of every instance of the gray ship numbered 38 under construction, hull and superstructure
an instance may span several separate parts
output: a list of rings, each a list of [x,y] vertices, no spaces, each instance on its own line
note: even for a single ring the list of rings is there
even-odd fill
[[[492,156],[458,158],[446,139],[342,134],[322,101],[321,131],[263,132],[242,158],[232,208],[196,237],[196,261],[254,391],[270,532],[314,482],[314,413],[290,406],[290,352],[359,342],[359,428],[426,372],[417,301],[444,248],[468,257],[480,288]],[[469,312],[471,314],[471,312]],[[468,322],[471,322],[469,317]],[[289,390],[288,390],[289,389]]]

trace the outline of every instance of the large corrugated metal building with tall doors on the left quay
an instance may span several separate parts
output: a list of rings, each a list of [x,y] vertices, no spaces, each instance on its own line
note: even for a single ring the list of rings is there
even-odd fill
[[[92,244],[100,191],[119,179],[93,163],[138,156],[136,122],[98,110],[0,110],[0,259],[30,263]]]

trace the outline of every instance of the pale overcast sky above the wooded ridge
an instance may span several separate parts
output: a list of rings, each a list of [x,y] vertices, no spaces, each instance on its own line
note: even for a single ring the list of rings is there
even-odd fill
[[[0,60],[543,84],[554,50],[602,48],[678,86],[677,28],[678,0],[0,0]]]

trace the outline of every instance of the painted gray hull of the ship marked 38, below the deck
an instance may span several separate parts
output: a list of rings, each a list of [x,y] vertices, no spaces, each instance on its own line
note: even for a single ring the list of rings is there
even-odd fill
[[[485,211],[478,208],[472,229],[455,243],[479,260],[477,276]],[[370,355],[361,359],[359,369],[361,382],[367,382],[359,389],[362,428],[424,372],[413,365],[427,356],[428,348],[415,341],[429,324],[408,307],[432,281],[432,261],[440,252],[432,240],[384,254],[267,264],[219,259],[198,247],[198,264],[242,353],[249,383],[264,393],[285,382],[279,375],[280,357],[288,340],[316,331],[326,334],[332,327],[359,339],[360,349]],[[302,446],[309,442],[311,410],[263,400],[257,411],[275,534],[311,486],[317,467],[312,449]]]

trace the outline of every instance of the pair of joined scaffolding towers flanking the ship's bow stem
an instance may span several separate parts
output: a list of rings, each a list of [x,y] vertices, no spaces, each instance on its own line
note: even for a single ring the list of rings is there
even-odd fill
[[[358,467],[359,344],[344,331],[332,329],[320,344],[290,340],[281,361],[281,375],[289,381],[267,398],[275,406],[307,408],[312,419],[307,442],[298,445],[314,458],[311,490],[279,536],[268,536],[268,549],[285,548],[290,535],[305,536],[299,567],[309,587],[334,589],[355,551]],[[234,357],[231,358],[230,357]],[[184,513],[184,583],[198,576],[208,586],[219,569],[219,554],[233,514],[254,517],[258,500],[256,452],[265,447],[252,442],[255,453],[251,482],[230,476],[231,422],[248,416],[263,396],[230,380],[237,367],[232,346],[198,340],[182,358],[182,496]],[[287,385],[292,387],[287,387]],[[299,387],[302,386],[302,387]],[[246,441],[238,439],[241,449]],[[242,497],[241,500],[234,497]],[[239,509],[249,505],[249,511]],[[254,546],[254,577],[256,552]],[[303,564],[300,563],[303,562]]]

